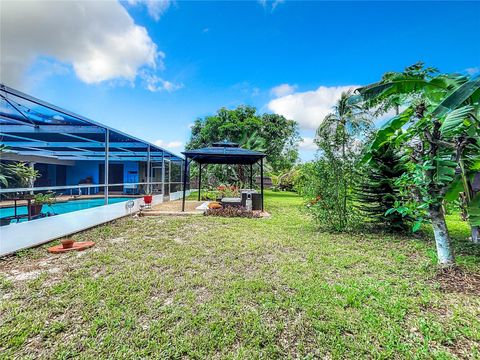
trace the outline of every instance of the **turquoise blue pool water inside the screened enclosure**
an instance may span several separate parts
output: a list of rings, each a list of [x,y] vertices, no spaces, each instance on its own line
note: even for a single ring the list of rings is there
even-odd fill
[[[133,198],[109,198],[109,204],[116,204],[122,201],[134,200]],[[89,209],[96,206],[105,205],[104,199],[85,199],[85,200],[70,200],[66,202],[59,202],[52,205],[43,205],[42,213],[52,213],[52,214],[65,214],[72,211]],[[17,208],[17,214],[27,214],[26,206],[19,206]],[[0,209],[0,217],[13,216],[15,215],[15,210],[13,207]]]

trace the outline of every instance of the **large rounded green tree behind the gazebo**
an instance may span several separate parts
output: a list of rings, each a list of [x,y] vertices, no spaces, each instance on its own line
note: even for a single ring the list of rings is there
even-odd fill
[[[246,148],[262,144],[274,173],[290,169],[298,160],[297,123],[281,115],[259,114],[253,106],[221,108],[215,115],[195,120],[186,148],[198,149],[222,140]]]

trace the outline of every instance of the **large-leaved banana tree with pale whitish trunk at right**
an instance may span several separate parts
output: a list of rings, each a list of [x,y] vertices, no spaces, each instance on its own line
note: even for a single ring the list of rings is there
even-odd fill
[[[442,202],[462,161],[480,153],[478,117],[480,78],[438,74],[422,64],[404,73],[388,73],[382,81],[358,89],[366,106],[378,107],[392,96],[403,96],[406,109],[388,121],[369,145],[364,161],[385,143],[405,149],[408,171],[399,179],[412,201],[396,204],[404,215],[429,220],[435,236],[438,262],[454,264]]]

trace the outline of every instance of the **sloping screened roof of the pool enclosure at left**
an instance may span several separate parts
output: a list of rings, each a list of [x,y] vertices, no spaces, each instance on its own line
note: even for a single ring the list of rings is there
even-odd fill
[[[0,143],[7,151],[61,160],[152,161],[183,158],[160,146],[0,84]]]

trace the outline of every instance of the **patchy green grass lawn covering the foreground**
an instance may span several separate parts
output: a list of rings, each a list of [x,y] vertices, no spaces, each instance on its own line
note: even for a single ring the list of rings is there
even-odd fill
[[[480,297],[441,289],[431,242],[320,233],[300,205],[126,218],[75,235],[85,252],[1,262],[0,357],[480,358]]]

